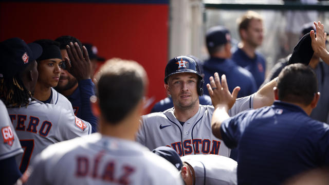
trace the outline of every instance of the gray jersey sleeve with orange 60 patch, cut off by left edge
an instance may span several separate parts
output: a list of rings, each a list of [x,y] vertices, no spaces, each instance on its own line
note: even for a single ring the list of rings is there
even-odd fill
[[[0,100],[0,160],[13,157],[20,153],[23,153],[20,140],[17,137],[14,127],[11,124],[8,116],[7,108]]]

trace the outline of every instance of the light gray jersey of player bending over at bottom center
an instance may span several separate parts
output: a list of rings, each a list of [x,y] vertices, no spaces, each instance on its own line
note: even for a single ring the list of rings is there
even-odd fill
[[[237,184],[237,162],[231,158],[219,155],[189,155],[180,159],[193,167],[196,185]]]

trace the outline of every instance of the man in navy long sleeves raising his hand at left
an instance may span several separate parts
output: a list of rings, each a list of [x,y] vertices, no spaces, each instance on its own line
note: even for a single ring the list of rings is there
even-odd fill
[[[60,36],[55,41],[60,43],[62,59],[67,59],[65,64],[68,64],[68,66],[66,67],[69,67],[68,59],[73,65],[77,66],[74,70],[61,68],[61,77],[55,89],[71,102],[74,113],[78,118],[88,121],[92,125],[94,133],[97,131],[97,117],[92,112],[90,97],[95,95],[95,86],[92,79],[90,79],[90,74],[92,74],[90,60],[84,58],[82,52],[80,52],[80,50],[86,48],[73,36]],[[67,45],[69,45],[69,50],[66,48]],[[74,48],[76,48],[76,51],[72,50]],[[72,51],[70,52],[70,50]],[[69,55],[70,53],[71,55]]]

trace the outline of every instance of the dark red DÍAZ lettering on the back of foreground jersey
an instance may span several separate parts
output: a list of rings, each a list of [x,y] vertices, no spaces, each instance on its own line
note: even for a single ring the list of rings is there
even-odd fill
[[[87,156],[76,157],[76,177],[94,178],[118,184],[131,184],[129,177],[134,173],[134,168],[129,165],[117,167],[115,160],[101,161],[104,153],[100,152],[94,159]]]

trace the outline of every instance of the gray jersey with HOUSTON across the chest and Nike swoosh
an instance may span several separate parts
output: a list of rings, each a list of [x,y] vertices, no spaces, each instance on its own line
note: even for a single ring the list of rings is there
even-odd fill
[[[252,107],[253,95],[236,99],[229,110],[234,116]],[[216,154],[229,157],[230,149],[211,131],[214,107],[199,105],[198,112],[184,125],[174,116],[174,109],[142,116],[136,140],[150,150],[159,146],[172,147],[179,156],[191,154]]]

